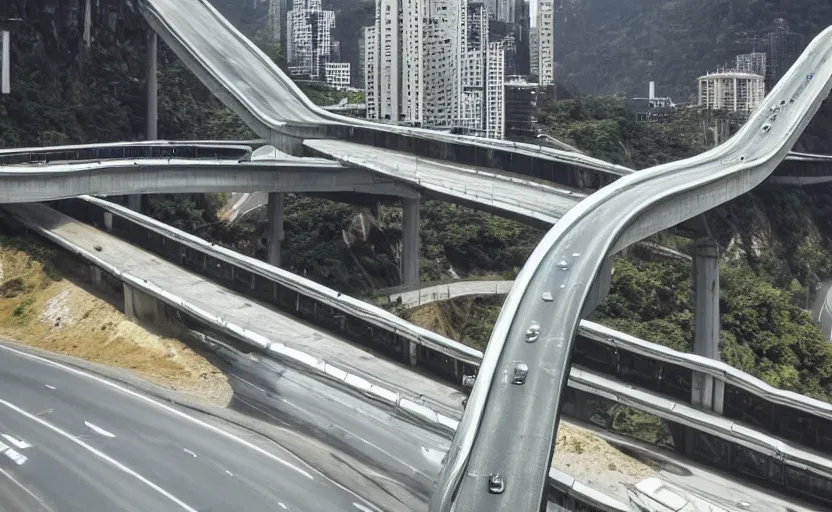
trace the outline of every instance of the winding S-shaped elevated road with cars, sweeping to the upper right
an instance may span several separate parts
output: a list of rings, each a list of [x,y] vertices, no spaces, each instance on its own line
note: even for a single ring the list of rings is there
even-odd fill
[[[816,100],[829,91],[830,42],[832,30],[818,36],[724,145],[622,178],[568,212],[544,237],[495,325],[437,502],[453,488],[448,485],[453,478],[448,477],[457,475],[461,485],[456,512],[540,509],[575,334],[603,260],[611,251],[672,225],[676,217],[696,215],[761,182],[764,173],[737,172],[734,166],[751,168],[774,154],[785,156],[808,123],[807,115],[814,113],[811,109],[819,106]],[[808,80],[810,73],[814,78]],[[781,107],[777,119],[770,110],[775,105]],[[659,202],[660,198],[665,200]],[[544,292],[553,300],[543,301]],[[540,340],[526,343],[524,333],[532,321],[543,326]],[[508,379],[517,361],[529,368],[522,386]],[[505,476],[505,492],[489,493],[490,473]]]

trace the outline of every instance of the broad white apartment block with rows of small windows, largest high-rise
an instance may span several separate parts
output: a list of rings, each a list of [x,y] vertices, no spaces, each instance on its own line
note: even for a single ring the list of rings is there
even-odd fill
[[[363,33],[367,117],[501,137],[503,89],[488,80],[503,48],[489,45],[489,16],[479,0],[377,0]]]

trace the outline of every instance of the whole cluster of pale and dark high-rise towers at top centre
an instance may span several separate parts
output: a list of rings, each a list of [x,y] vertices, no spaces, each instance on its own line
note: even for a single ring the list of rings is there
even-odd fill
[[[361,42],[367,118],[503,138],[507,76],[554,84],[554,0],[534,3],[531,31],[523,0],[376,0]]]

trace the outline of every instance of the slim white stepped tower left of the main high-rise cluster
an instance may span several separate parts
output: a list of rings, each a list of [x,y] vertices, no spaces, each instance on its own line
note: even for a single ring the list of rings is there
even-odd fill
[[[332,58],[335,12],[321,9],[321,0],[294,0],[286,13],[286,60],[293,75],[325,78]]]

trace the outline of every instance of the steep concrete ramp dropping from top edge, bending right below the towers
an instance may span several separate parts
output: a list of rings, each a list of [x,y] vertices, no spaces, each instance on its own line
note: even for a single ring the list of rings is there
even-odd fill
[[[444,142],[505,153],[502,160],[533,159],[626,175],[631,169],[580,153],[534,144],[487,140],[373,123],[316,106],[254,43],[206,0],[140,0],[144,17],[211,92],[240,115],[258,135],[299,149],[304,138],[350,139],[350,129],[381,139],[401,136],[414,145]],[[376,148],[379,149],[379,148]]]

